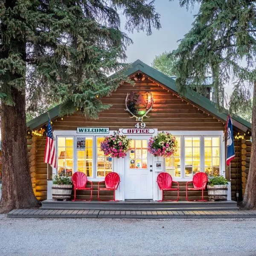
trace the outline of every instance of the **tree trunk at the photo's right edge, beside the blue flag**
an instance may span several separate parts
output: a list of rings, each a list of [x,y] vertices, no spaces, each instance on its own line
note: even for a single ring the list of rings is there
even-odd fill
[[[244,193],[243,206],[246,209],[256,209],[256,81],[254,81],[253,87],[252,148],[250,168]]]

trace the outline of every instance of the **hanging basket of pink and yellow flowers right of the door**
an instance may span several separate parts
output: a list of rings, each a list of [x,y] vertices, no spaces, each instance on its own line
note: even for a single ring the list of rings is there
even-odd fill
[[[171,157],[177,151],[177,140],[169,133],[160,132],[148,141],[148,151],[155,157]]]

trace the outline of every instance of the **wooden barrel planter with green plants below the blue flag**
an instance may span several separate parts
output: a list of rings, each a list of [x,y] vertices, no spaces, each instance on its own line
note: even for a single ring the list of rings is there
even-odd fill
[[[227,184],[228,181],[223,176],[210,178],[207,185],[209,201],[227,201]]]

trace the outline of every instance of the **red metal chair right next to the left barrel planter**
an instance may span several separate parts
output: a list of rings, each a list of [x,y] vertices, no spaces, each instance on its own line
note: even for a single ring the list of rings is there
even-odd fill
[[[89,180],[87,180],[87,176],[83,172],[75,172],[72,175],[72,182],[73,182],[73,188],[75,191],[74,199],[72,201],[92,201],[93,198],[93,183]],[[90,183],[90,188],[86,187],[86,184]],[[81,199],[76,199],[76,190],[90,190],[91,191],[91,196],[90,200],[81,200]]]

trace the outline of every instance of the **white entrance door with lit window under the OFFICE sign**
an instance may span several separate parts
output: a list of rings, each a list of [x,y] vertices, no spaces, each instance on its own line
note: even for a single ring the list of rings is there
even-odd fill
[[[125,157],[125,199],[153,198],[153,157],[147,151],[148,137],[131,140]]]

